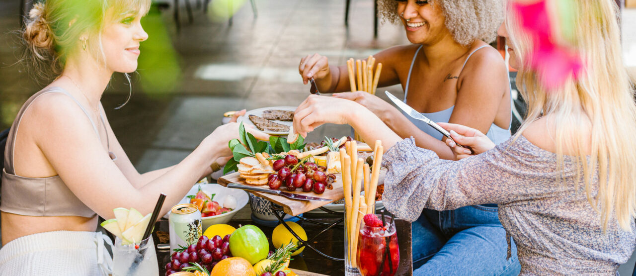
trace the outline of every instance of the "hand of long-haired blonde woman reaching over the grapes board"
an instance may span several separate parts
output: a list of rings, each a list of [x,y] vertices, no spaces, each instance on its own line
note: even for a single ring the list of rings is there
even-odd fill
[[[294,131],[307,137],[307,132],[325,123],[349,124],[349,115],[357,109],[364,107],[351,100],[310,95],[296,108]]]

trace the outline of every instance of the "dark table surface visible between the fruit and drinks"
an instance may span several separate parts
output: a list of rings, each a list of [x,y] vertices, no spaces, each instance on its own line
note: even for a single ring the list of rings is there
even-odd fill
[[[233,217],[232,221],[230,221],[230,225],[238,228],[239,224],[254,224],[251,219],[249,219],[250,214],[249,206],[245,206],[244,209],[240,210],[240,214],[237,214]],[[305,217],[312,216],[311,214],[305,214]],[[316,215],[313,215],[316,216]],[[329,215],[319,215],[320,218],[315,218],[318,221],[324,223],[333,223],[336,221],[336,218],[331,217],[328,218]],[[313,237],[318,231],[321,230],[322,226],[317,226],[311,223],[298,222],[305,231],[307,231],[308,237]],[[412,263],[412,254],[411,254],[411,223],[408,221],[403,221],[401,219],[396,219],[395,221],[397,227],[397,240],[399,242],[399,254],[400,254],[400,263],[399,268],[396,275],[411,275],[413,273],[413,263]],[[273,249],[272,245],[272,231],[273,227],[258,226],[265,235],[267,236],[270,242],[270,249]],[[155,224],[155,230],[168,231],[168,221],[162,219],[157,221]],[[159,243],[158,238],[155,233],[153,233],[153,238],[155,244]],[[314,246],[331,256],[335,256],[338,258],[343,258],[344,255],[344,234],[342,224],[338,225],[321,235],[320,242],[314,242]],[[169,250],[157,250],[157,259],[159,264],[159,275],[165,274],[165,265],[170,262],[170,251]],[[294,256],[294,259],[291,261],[289,268],[293,268],[296,270],[302,270],[307,272],[321,273],[324,275],[344,275],[344,266],[345,263],[342,261],[331,261],[329,259],[322,258],[317,253],[310,249],[305,249],[302,254],[298,256]],[[303,275],[303,274],[300,274]],[[307,274],[311,275],[311,274]],[[315,274],[314,274],[315,275]]]

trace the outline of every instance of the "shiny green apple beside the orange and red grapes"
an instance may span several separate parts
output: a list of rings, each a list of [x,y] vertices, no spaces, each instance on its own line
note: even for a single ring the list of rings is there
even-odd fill
[[[230,251],[232,256],[247,259],[254,265],[267,258],[270,245],[263,231],[254,225],[245,225],[230,236]]]

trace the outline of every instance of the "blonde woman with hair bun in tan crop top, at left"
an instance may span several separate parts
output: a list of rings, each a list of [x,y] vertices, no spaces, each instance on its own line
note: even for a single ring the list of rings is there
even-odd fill
[[[26,46],[37,72],[57,69],[52,72],[57,78],[29,99],[11,129],[0,208],[0,275],[11,274],[17,251],[9,251],[20,240],[59,233],[52,231],[94,232],[95,214],[109,219],[116,207],[147,214],[160,193],[167,195],[163,216],[194,183],[211,174],[211,163],[223,165],[232,154],[227,144],[239,134],[237,123],[216,128],[178,164],[144,174],[137,172],[117,141],[100,98],[113,72],[137,69],[140,43],[148,39],[140,20],[150,2],[48,0],[31,10],[24,30]],[[102,14],[104,18],[91,16]],[[34,193],[38,189],[41,192]],[[40,204],[25,206],[13,198],[24,193],[36,194]],[[76,201],[68,205],[69,200]],[[38,256],[41,259],[27,265],[44,266],[48,257],[64,258]],[[69,263],[78,261],[61,260],[57,266]],[[94,267],[86,270],[94,272]]]

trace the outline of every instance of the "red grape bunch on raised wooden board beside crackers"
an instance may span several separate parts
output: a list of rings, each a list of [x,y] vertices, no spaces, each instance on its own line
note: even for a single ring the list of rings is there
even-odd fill
[[[276,171],[270,174],[268,184],[270,189],[278,190],[280,186],[286,186],[287,191],[295,191],[301,188],[303,191],[314,191],[314,193],[324,193],[325,189],[331,190],[331,183],[336,179],[333,174],[326,174],[326,168],[308,162],[307,158],[298,160],[294,155],[287,155],[285,158],[276,160],[272,167]]]

